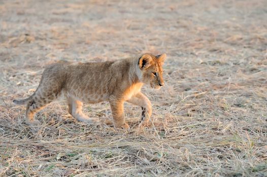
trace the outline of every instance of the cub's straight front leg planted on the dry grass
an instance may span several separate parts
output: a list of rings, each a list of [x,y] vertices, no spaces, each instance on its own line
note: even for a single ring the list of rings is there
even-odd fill
[[[110,99],[110,107],[113,116],[113,123],[116,128],[129,130],[130,126],[125,122],[123,101],[117,99]]]

